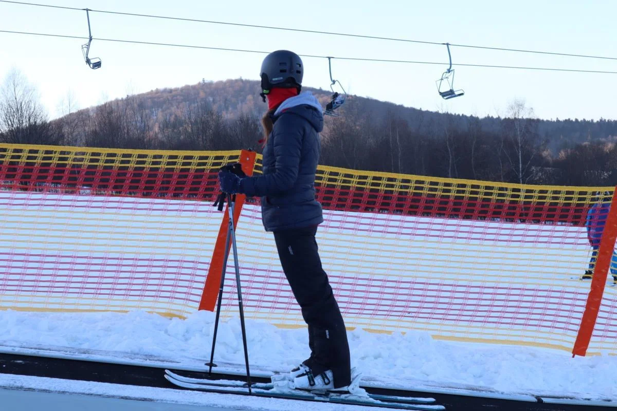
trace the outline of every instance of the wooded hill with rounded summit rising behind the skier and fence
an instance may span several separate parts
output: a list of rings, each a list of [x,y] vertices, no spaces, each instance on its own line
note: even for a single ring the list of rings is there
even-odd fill
[[[310,89],[325,106],[329,90]],[[2,132],[4,142],[139,149],[253,148],[267,106],[259,82],[155,89]],[[465,98],[465,97],[461,97]],[[617,184],[617,121],[539,120],[513,101],[503,118],[453,115],[350,96],[326,117],[321,163],[536,184]]]

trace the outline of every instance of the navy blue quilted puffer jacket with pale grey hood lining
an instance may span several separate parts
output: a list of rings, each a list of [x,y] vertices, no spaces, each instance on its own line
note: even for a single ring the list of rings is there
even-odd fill
[[[315,172],[323,129],[321,105],[303,92],[283,102],[272,116],[274,128],[263,149],[263,176],[242,179],[239,192],[262,198],[266,231],[279,231],[323,222],[315,200]]]

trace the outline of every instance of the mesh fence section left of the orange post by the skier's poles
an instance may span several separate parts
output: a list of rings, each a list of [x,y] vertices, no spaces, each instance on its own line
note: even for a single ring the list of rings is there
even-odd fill
[[[0,306],[194,311],[238,155],[0,146]]]

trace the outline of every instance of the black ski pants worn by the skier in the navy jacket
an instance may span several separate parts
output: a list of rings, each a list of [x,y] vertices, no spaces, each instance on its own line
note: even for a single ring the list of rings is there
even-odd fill
[[[317,226],[312,226],[275,231],[274,238],[281,266],[309,326],[311,356],[305,364],[315,376],[332,370],[334,388],[341,388],[351,383],[347,331],[321,267],[315,233]]]

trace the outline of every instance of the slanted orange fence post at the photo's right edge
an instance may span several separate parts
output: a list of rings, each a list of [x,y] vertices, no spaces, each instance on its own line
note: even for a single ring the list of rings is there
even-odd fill
[[[615,250],[615,240],[617,240],[617,187],[613,193],[610,212],[607,216],[600,248],[598,249],[597,260],[595,261],[594,276],[591,280],[591,288],[587,297],[585,311],[582,314],[581,327],[579,328],[576,342],[572,349],[572,356],[585,356],[591,335],[594,332],[595,322],[602,304],[602,296],[607,282],[608,269],[610,267],[613,250]]]

